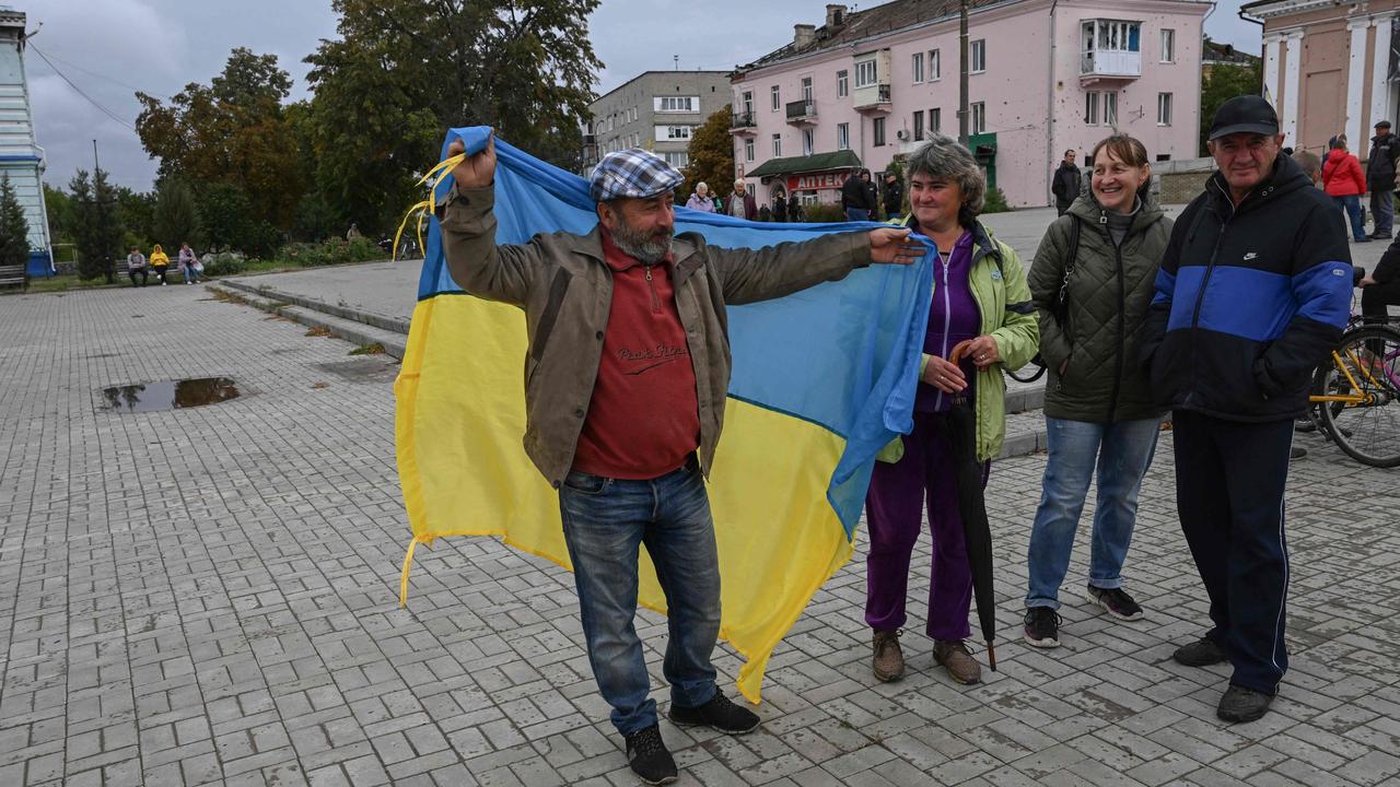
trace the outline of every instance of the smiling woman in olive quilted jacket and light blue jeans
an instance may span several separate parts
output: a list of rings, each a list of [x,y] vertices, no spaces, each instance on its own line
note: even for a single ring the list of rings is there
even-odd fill
[[[1151,179],[1141,141],[1114,134],[1096,144],[1089,193],[1050,224],[1030,266],[1040,357],[1050,374],[1050,455],[1026,556],[1025,640],[1035,647],[1060,644],[1060,585],[1095,473],[1085,594],[1113,618],[1142,618],[1123,590],[1123,562],[1165,410],[1152,402],[1137,351],[1172,234],[1172,220],[1145,188]]]

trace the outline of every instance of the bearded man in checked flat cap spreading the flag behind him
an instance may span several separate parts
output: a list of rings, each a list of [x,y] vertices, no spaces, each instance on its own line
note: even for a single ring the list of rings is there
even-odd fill
[[[461,141],[449,155],[463,151]],[[843,279],[869,262],[910,263],[924,246],[903,228],[825,235],[762,249],[721,249],[675,235],[682,175],[643,150],[598,162],[598,224],[587,235],[496,244],[496,151],[452,169],[441,206],[447,263],[473,295],[524,308],[525,451],[559,490],[588,658],[631,769],[676,777],[633,618],[638,546],[669,608],[664,672],[669,718],[748,732],[759,718],[715,686],[720,567],[704,476],[729,382],[727,304],[777,298]]]

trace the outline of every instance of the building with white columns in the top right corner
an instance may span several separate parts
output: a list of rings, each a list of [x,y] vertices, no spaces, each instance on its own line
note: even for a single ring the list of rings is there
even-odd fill
[[[1322,153],[1345,132],[1357,155],[1380,120],[1396,118],[1400,0],[1261,0],[1240,14],[1264,25],[1264,94],[1284,144]]]

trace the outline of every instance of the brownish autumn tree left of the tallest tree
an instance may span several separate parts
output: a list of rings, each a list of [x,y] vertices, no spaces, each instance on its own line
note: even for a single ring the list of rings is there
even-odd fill
[[[136,130],[162,178],[234,185],[256,218],[286,228],[305,190],[281,106],[290,91],[276,55],[238,48],[209,85],[190,83],[169,104],[137,92]]]

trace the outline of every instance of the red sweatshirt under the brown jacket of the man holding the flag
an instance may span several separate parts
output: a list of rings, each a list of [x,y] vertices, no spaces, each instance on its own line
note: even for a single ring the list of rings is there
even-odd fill
[[[613,274],[603,354],[574,469],[652,479],[700,445],[700,405],[686,329],[676,312],[671,259],[644,266],[602,231]]]

